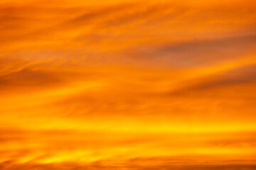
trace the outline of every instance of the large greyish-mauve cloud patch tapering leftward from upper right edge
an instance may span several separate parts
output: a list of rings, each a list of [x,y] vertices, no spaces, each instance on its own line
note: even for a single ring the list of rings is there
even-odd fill
[[[228,60],[237,60],[253,52],[255,35],[198,40],[130,49],[127,57],[134,61],[149,63],[149,66],[191,69],[206,67]],[[157,64],[156,64],[157,63]]]

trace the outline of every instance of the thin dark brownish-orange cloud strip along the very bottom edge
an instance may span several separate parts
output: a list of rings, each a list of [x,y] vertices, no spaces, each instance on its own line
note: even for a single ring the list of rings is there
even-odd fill
[[[0,164],[1,170],[100,170],[100,169],[125,169],[125,170],[254,170],[256,164],[196,164],[190,165],[180,164],[161,164],[161,165],[139,165],[139,164],[113,164],[103,165],[94,163],[89,165],[81,165],[75,163],[60,163],[60,164],[13,164],[12,162],[3,162]]]

